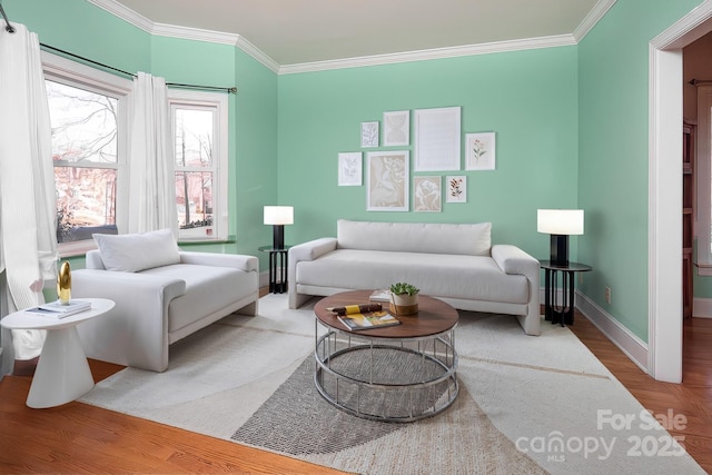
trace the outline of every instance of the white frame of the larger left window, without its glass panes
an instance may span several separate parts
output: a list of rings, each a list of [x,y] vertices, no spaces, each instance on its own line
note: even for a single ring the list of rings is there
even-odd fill
[[[41,51],[41,61],[46,80],[86,89],[117,99],[116,167],[112,165],[108,166],[107,164],[95,164],[96,166],[92,167],[77,167],[70,164],[65,166],[77,168],[111,168],[117,170],[116,226],[119,230],[126,229],[126,224],[128,222],[128,96],[131,92],[132,80],[81,65],[47,51]],[[93,239],[61,243],[58,245],[60,257],[80,256],[96,248],[97,246]]]

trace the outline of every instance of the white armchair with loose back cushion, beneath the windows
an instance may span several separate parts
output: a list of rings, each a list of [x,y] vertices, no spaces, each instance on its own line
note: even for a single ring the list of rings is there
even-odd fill
[[[180,251],[159,232],[95,235],[99,250],[72,270],[72,297],[116,303],[77,327],[88,357],[164,372],[170,344],[238,310],[257,314],[257,257]]]

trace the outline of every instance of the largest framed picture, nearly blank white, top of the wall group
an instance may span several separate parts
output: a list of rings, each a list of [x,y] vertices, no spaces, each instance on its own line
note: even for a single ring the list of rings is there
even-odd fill
[[[414,111],[415,171],[459,170],[461,108]]]

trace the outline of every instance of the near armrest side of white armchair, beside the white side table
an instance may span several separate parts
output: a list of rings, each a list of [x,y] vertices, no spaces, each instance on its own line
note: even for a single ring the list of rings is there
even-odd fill
[[[71,278],[72,297],[102,297],[116,303],[106,315],[77,327],[88,357],[166,370],[168,305],[185,294],[184,280],[97,269],[75,270]]]

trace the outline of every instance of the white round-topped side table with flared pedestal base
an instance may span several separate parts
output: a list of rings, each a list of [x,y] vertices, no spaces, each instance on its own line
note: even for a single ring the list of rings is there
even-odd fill
[[[42,354],[27,396],[29,407],[60,406],[77,399],[93,387],[93,377],[77,333],[77,325],[106,314],[115,304],[106,298],[75,300],[91,301],[91,309],[66,318],[20,310],[0,320],[0,325],[10,329],[47,330]]]

